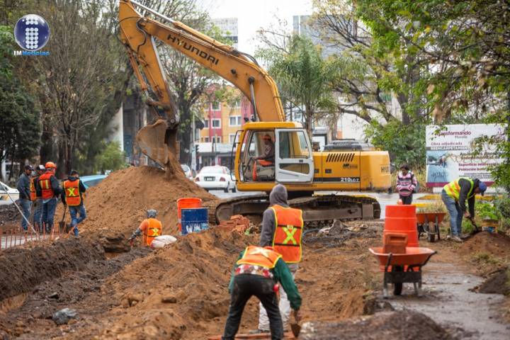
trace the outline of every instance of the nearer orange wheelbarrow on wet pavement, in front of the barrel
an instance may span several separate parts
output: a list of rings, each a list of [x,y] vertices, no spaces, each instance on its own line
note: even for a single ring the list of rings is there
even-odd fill
[[[421,267],[425,266],[437,251],[414,246],[407,246],[405,254],[383,253],[382,247],[368,250],[378,259],[380,268],[384,271],[384,298],[388,297],[388,283],[393,284],[393,295],[402,294],[404,283],[412,283],[416,295],[421,296]]]

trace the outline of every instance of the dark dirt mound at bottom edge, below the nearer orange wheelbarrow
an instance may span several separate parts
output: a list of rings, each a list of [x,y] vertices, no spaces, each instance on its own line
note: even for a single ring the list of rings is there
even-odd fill
[[[300,339],[303,340],[441,340],[451,336],[432,319],[408,310],[381,312],[373,317],[349,319],[344,322],[307,323]]]

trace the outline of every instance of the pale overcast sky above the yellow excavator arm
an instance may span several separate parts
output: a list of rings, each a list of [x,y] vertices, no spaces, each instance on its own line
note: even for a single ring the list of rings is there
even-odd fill
[[[312,13],[312,0],[199,0],[211,18],[237,18],[238,49],[255,52],[256,31],[277,26],[278,18],[287,21],[292,30],[293,16]]]

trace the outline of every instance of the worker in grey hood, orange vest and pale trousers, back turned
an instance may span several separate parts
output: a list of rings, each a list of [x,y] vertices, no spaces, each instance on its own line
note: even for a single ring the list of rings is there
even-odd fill
[[[288,206],[287,188],[278,184],[269,194],[269,208],[263,213],[260,246],[273,246],[281,254],[288,265],[293,279],[299,268],[302,255],[302,211]],[[266,333],[269,330],[269,319],[263,305],[260,304],[259,327],[251,333]],[[290,317],[290,303],[285,290],[280,287],[280,314],[283,329],[288,326]]]

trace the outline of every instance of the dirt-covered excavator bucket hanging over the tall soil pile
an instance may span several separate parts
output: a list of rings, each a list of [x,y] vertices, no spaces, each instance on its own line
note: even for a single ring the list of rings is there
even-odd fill
[[[179,148],[176,140],[177,129],[169,128],[166,120],[158,119],[156,123],[146,125],[137,133],[137,143],[144,154],[154,162],[163,166],[166,171],[174,172],[169,169],[176,158]]]

